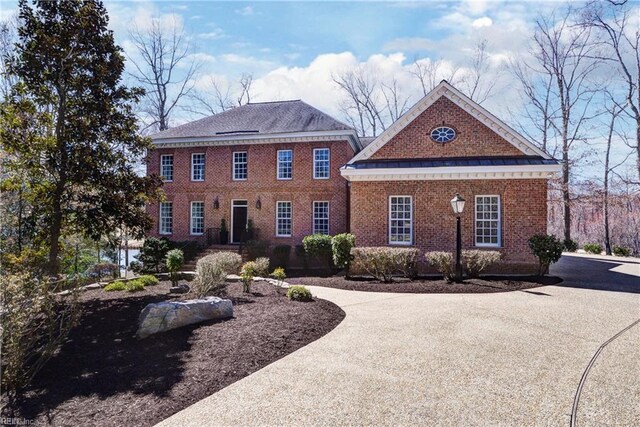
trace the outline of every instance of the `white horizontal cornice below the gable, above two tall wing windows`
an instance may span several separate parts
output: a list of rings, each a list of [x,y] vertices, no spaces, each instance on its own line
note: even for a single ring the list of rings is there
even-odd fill
[[[347,181],[433,181],[443,179],[547,179],[560,172],[560,165],[449,166],[439,168],[351,169],[340,174]]]

